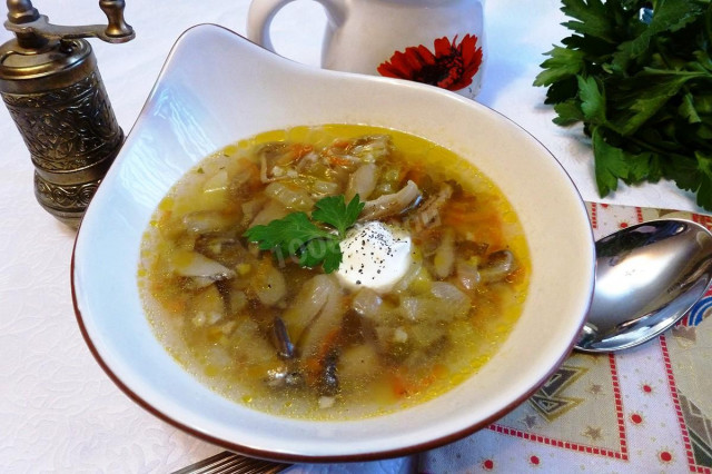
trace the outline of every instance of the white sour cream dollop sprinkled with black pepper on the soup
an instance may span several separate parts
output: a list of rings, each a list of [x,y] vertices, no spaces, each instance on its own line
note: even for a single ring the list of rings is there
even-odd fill
[[[405,230],[377,220],[357,225],[339,243],[343,259],[336,276],[348,288],[386,293],[407,271],[411,247],[411,236]]]

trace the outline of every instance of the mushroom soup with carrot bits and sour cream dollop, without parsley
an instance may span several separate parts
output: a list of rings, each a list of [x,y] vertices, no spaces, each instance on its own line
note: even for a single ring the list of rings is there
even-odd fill
[[[245,237],[294,213],[335,236],[315,206],[356,195],[366,204],[334,271]],[[266,132],[188,171],[145,234],[139,286],[158,338],[210,388],[344,419],[474,374],[516,322],[528,273],[515,213],[468,161],[403,132],[329,125]]]

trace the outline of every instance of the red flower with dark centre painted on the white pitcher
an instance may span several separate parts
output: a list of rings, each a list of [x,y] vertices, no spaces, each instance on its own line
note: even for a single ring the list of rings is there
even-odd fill
[[[457,36],[451,42],[447,37],[434,41],[435,52],[419,45],[396,51],[388,61],[378,66],[382,76],[409,79],[459,90],[472,83],[472,78],[482,65],[482,47],[477,48],[477,37],[465,34],[457,45]]]

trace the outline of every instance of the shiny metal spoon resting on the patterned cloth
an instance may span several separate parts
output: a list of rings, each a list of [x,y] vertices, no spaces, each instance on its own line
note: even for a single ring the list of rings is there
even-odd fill
[[[596,241],[595,289],[575,348],[637,346],[674,325],[712,278],[712,234],[683,219],[652,220]]]

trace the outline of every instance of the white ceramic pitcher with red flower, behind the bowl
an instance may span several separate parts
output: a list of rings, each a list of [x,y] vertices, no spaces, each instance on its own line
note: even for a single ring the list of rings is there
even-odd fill
[[[269,26],[294,0],[253,0],[248,38],[275,51]],[[474,98],[485,65],[484,0],[316,0],[326,69],[431,83]]]

